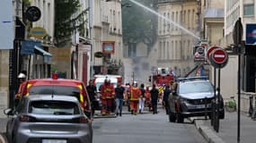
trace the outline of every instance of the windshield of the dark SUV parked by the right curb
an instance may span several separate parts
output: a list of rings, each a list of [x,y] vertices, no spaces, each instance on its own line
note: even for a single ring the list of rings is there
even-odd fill
[[[210,82],[181,82],[179,92],[181,94],[214,92],[214,88]]]

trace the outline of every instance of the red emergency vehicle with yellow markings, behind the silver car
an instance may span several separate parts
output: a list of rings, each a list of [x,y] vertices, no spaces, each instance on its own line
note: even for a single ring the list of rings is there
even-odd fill
[[[15,105],[22,96],[30,95],[66,95],[77,97],[84,114],[91,117],[92,109],[84,82],[80,80],[58,79],[57,75],[49,79],[35,79],[23,81],[15,95]]]

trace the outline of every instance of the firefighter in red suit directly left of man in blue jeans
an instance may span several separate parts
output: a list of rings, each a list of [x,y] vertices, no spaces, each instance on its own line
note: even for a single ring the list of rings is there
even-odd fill
[[[102,100],[102,115],[110,114],[113,108],[113,101],[115,98],[115,89],[110,84],[110,80],[104,80],[104,84],[101,88],[101,100]]]

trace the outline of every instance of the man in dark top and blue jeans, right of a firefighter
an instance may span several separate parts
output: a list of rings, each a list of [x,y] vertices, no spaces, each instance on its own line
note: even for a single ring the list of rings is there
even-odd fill
[[[121,82],[118,82],[117,88],[115,88],[115,94],[116,94],[116,103],[117,103],[117,116],[122,116],[122,106],[123,106],[123,100],[124,100],[124,91],[125,88],[121,86]]]

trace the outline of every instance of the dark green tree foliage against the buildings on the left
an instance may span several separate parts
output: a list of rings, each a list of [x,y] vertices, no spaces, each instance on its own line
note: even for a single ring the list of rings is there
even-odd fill
[[[71,35],[75,30],[84,33],[84,14],[79,12],[81,8],[79,0],[55,0],[55,33],[57,46],[65,46],[71,42]]]

